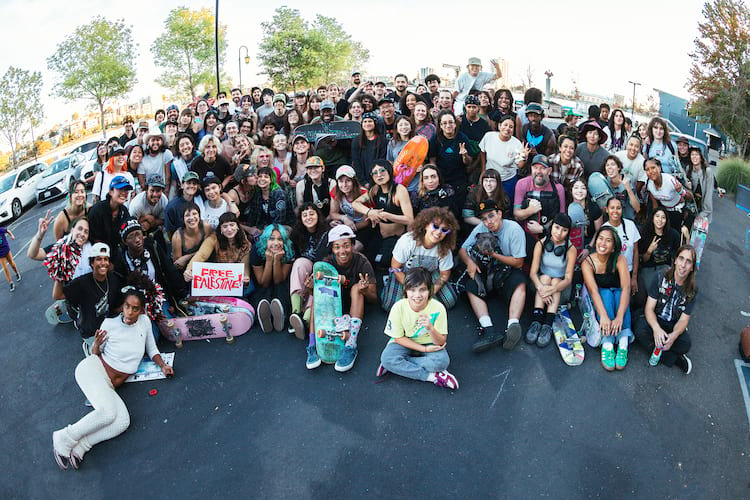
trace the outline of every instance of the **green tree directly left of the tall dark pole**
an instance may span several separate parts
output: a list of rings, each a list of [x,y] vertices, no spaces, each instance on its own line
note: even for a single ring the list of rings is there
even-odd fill
[[[196,97],[199,86],[207,89],[215,86],[214,24],[214,14],[208,8],[172,9],[164,21],[164,33],[151,45],[154,62],[164,69],[156,79],[159,85],[192,98]],[[226,33],[226,25],[220,24],[220,66],[224,65]]]

